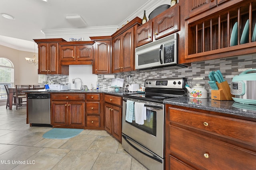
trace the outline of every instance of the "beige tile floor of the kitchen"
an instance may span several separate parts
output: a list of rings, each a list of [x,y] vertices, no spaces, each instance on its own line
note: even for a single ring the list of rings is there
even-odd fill
[[[44,139],[50,129],[26,124],[26,107],[0,106],[0,170],[146,170],[106,131]]]

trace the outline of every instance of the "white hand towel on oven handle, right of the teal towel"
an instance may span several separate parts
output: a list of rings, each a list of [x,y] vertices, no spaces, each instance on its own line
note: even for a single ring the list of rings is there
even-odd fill
[[[139,125],[144,124],[144,120],[147,119],[146,107],[144,107],[144,103],[135,102],[134,103],[134,115],[135,115],[135,123]]]

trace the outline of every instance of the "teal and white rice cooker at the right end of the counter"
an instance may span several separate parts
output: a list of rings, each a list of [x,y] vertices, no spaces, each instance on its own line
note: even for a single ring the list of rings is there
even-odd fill
[[[256,105],[256,69],[246,70],[234,76],[230,84],[235,102]]]

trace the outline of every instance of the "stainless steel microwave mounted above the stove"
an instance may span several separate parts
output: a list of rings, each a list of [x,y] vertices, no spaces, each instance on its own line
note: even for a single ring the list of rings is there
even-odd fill
[[[178,33],[142,45],[135,49],[135,69],[159,68],[173,66],[172,68],[186,67],[178,64],[177,54]]]

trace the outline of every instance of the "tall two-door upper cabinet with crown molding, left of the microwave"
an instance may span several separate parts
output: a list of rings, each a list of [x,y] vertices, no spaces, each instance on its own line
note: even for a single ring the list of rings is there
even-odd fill
[[[141,22],[142,20],[136,17],[112,35],[112,73],[134,70],[134,30]]]

